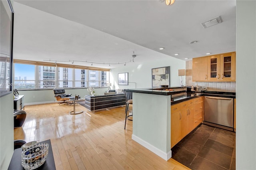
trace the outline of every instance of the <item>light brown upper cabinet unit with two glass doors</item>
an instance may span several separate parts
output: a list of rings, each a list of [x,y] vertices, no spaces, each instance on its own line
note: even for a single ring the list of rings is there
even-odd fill
[[[193,81],[236,81],[236,52],[193,58],[192,71]]]

